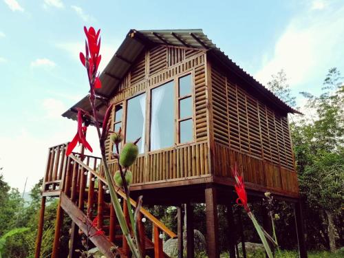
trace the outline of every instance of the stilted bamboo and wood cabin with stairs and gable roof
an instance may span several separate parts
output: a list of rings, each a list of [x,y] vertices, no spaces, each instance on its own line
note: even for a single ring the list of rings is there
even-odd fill
[[[147,210],[141,211],[147,218],[140,226],[147,255],[167,257],[159,237],[163,234],[178,238],[180,257],[184,248],[187,256],[193,257],[193,204],[205,203],[208,256],[219,257],[217,204],[223,204],[228,212],[230,257],[235,257],[238,225],[233,224],[236,195],[231,169],[236,165],[244,175],[249,202],[260,202],[269,191],[294,204],[300,256],[307,257],[288,127],[288,113],[296,110],[233,63],[202,30],[130,30],[100,79],[103,87],[96,89],[98,112],[104,116],[107,105],[113,103],[111,129],[122,128],[125,142],[141,138],[140,154],[130,168],[133,200],[143,195],[144,204],[178,207],[177,234]],[[88,96],[63,116],[76,120],[78,108],[91,111]],[[94,244],[107,257],[114,257],[111,246],[119,247],[115,248],[117,255],[129,257],[109,203],[102,160],[85,155],[83,149],[66,158],[66,146],[60,144],[48,152],[36,257],[47,196],[60,198],[52,257],[61,257],[64,215],[72,219],[69,257],[76,257],[78,228],[87,230],[80,218],[85,218],[89,209],[94,211],[91,217],[98,215],[98,228],[105,230],[105,235],[92,237]],[[109,139],[106,148],[114,173],[116,149]],[[185,213],[187,244],[183,246]],[[146,233],[149,225],[153,236]]]

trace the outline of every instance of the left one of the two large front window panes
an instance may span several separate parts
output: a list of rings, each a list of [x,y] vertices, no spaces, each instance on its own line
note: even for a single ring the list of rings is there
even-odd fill
[[[135,98],[131,98],[127,103],[127,123],[126,142],[134,142],[141,137],[138,142],[140,153],[144,152],[144,121],[146,110],[146,94],[141,94]]]

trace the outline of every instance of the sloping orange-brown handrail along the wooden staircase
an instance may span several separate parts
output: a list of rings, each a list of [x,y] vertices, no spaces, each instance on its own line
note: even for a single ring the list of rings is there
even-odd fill
[[[80,164],[80,166],[83,166],[84,169],[86,169],[87,171],[92,173],[94,176],[96,176],[100,181],[107,184],[107,180],[105,178],[103,178],[103,176],[101,176],[99,173],[97,173],[96,171],[91,169],[89,166],[87,166],[87,164],[82,162],[80,159],[76,158],[76,156],[70,154],[69,158],[72,158],[72,160],[78,162],[78,164]],[[116,193],[118,193],[118,195],[120,195],[121,197],[124,197],[124,198],[126,197],[125,193],[119,187],[115,186],[115,189],[116,189]],[[130,203],[131,203],[131,205],[136,207],[136,202],[131,198],[130,198]],[[140,213],[142,213],[142,215],[144,215],[144,217],[147,217],[147,219],[149,219],[155,226],[160,228],[160,230],[164,231],[164,233],[166,233],[166,235],[169,235],[169,237],[171,237],[171,238],[177,237],[177,235],[175,235],[175,233],[173,233],[173,231],[171,231],[164,224],[162,224],[159,219],[157,219],[156,217],[151,215],[151,213],[149,213],[149,211],[147,211],[145,208],[141,207]]]

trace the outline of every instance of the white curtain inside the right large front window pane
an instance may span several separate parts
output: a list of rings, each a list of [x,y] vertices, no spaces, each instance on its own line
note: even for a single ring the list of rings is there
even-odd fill
[[[165,94],[165,87],[158,87],[152,91],[151,101],[151,150],[161,149],[160,130],[158,124],[158,113],[162,104],[162,98]]]

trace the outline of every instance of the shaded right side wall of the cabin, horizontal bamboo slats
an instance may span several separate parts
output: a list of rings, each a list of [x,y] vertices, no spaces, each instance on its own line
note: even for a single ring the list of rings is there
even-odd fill
[[[214,175],[232,177],[236,163],[244,180],[283,192],[298,192],[286,115],[278,114],[211,64]]]

